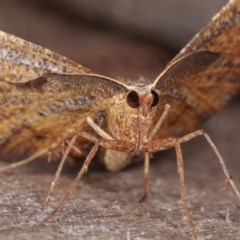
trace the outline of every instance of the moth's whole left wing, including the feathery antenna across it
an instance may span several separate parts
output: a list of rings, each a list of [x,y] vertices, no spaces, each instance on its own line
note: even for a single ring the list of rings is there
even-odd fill
[[[108,99],[125,91],[114,79],[1,31],[0,66],[2,154],[47,147],[76,122],[76,131],[89,130],[86,117],[104,122]]]

